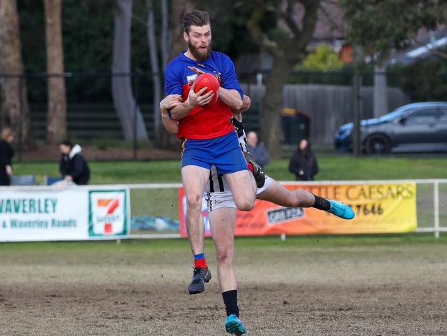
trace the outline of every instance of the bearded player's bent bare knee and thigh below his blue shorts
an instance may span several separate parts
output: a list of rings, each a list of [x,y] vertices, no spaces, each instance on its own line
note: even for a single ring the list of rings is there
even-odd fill
[[[230,186],[237,209],[242,211],[253,209],[257,189],[253,174],[248,170],[241,170],[224,176]]]

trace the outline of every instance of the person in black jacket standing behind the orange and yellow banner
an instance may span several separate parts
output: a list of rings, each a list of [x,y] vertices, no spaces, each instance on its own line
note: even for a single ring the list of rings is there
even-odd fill
[[[289,171],[296,176],[296,180],[312,181],[318,173],[316,156],[312,152],[311,145],[306,139],[300,141],[298,149],[290,158]]]

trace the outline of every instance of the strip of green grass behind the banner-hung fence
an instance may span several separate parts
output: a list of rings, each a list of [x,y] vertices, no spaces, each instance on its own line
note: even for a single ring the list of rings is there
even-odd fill
[[[265,171],[276,180],[294,180],[288,160],[274,160]],[[90,162],[91,184],[181,182],[179,160]],[[447,178],[447,157],[319,156],[317,180],[393,180]],[[17,163],[16,174],[58,176],[58,163]]]

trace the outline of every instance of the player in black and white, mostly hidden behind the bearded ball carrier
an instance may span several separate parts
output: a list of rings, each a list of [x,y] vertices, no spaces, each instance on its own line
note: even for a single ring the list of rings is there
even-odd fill
[[[179,103],[181,103],[181,97],[178,95],[166,96],[160,103],[164,127],[171,134],[177,133],[178,125],[168,117],[168,109]],[[245,151],[247,148],[246,134],[241,123],[241,112],[248,107],[250,107],[250,98],[244,96],[243,107],[233,117],[233,124],[239,136],[239,144],[241,149]],[[257,189],[257,198],[284,207],[316,207],[345,219],[351,219],[354,216],[352,209],[346,204],[320,198],[303,189],[290,191],[267,175],[263,187]],[[215,167],[212,167],[210,182],[206,187],[206,201],[210,229],[217,255],[217,277],[219,278],[223,302],[226,306],[225,327],[228,333],[242,335],[246,333],[246,328],[239,319],[237,278],[233,267],[236,206],[226,179],[218,174]],[[205,282],[206,279],[201,280],[201,284],[204,285]]]

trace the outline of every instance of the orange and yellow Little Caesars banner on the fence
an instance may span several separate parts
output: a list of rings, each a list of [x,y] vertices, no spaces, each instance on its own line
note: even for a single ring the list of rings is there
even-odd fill
[[[235,235],[285,233],[401,233],[417,228],[415,183],[362,183],[330,185],[285,184],[285,188],[305,189],[316,195],[349,204],[356,217],[343,220],[314,208],[280,207],[256,200],[252,211],[237,211]],[[186,203],[179,189],[180,233],[186,237]],[[210,235],[206,202],[202,214],[206,235]]]

